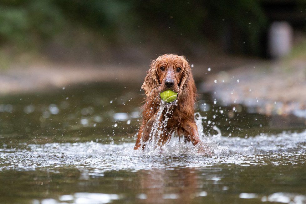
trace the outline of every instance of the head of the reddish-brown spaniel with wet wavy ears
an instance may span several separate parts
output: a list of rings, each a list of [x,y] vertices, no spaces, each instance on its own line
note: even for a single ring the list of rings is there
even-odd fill
[[[172,90],[178,97],[184,93],[190,77],[190,66],[184,56],[166,54],[153,60],[142,85],[147,97],[156,100],[160,92]]]

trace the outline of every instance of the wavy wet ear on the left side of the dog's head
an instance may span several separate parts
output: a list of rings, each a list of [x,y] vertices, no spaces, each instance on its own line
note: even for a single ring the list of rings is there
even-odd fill
[[[145,91],[145,95],[147,97],[151,97],[155,95],[154,92],[158,86],[159,82],[156,72],[156,60],[152,60],[150,69],[147,71],[147,76],[145,76],[145,81],[143,82],[141,88]]]

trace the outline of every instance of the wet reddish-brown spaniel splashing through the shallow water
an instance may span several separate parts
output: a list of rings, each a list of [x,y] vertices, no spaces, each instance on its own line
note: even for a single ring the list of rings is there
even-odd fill
[[[141,146],[144,149],[150,139],[152,125],[161,102],[159,94],[168,89],[178,93],[177,106],[171,107],[172,115],[169,116],[167,126],[160,131],[162,134],[153,135],[153,137],[158,137],[158,144],[163,145],[170,140],[172,133],[176,132],[179,136],[184,136],[185,142],[191,141],[193,145],[201,142],[194,120],[196,86],[190,65],[184,56],[166,54],[153,60],[142,88],[145,91],[146,100],[134,149],[139,149]],[[160,122],[167,114],[166,109],[162,113]]]

